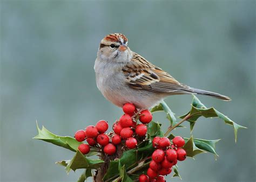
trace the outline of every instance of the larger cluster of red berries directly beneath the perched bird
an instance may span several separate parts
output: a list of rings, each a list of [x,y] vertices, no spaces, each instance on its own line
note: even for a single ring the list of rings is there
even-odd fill
[[[138,141],[142,141],[147,133],[146,124],[152,120],[152,114],[149,110],[143,110],[138,113],[136,107],[132,103],[126,103],[123,106],[124,115],[113,124],[113,132],[106,134],[109,124],[106,121],[100,120],[95,126],[89,125],[85,130],[78,130],[75,138],[78,142],[83,142],[86,139],[88,144],[80,144],[78,150],[84,155],[89,153],[91,148],[99,149],[106,155],[116,153],[116,145],[125,143],[127,149],[137,147]],[[142,122],[138,124],[137,120]],[[100,146],[101,147],[100,147]]]

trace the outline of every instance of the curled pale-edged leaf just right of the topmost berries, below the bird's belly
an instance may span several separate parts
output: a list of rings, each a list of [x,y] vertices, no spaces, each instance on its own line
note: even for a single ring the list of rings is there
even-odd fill
[[[154,112],[157,112],[157,111],[165,111],[165,113],[167,115],[166,116],[167,119],[171,122],[171,126],[173,124],[177,123],[177,119],[174,116],[174,113],[172,112],[172,110],[169,108],[169,106],[167,106],[167,104],[164,101],[162,101],[157,106],[155,106],[151,109],[151,113],[154,113]]]

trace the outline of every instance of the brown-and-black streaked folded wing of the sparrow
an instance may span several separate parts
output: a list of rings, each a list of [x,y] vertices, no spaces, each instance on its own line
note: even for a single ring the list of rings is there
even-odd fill
[[[176,92],[185,94],[193,92],[190,87],[179,83],[170,74],[152,65],[137,53],[133,54],[131,61],[122,71],[126,76],[126,82],[135,89],[160,93]]]

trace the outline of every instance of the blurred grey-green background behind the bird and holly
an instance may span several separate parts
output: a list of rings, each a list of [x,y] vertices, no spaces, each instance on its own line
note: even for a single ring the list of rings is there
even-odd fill
[[[235,144],[232,127],[200,118],[194,138],[222,138],[220,157],[207,153],[179,163],[183,181],[255,181],[255,1],[246,0],[2,0],[1,180],[77,180],[82,171],[67,175],[55,164],[73,152],[32,139],[36,120],[73,136],[98,120],[119,118],[122,109],[104,99],[93,71],[99,41],[114,32],[180,82],[230,96],[231,102],[198,97],[248,127],[238,131]],[[180,116],[191,99],[166,102]],[[154,120],[167,127],[163,113]],[[174,132],[190,135],[189,128]]]

